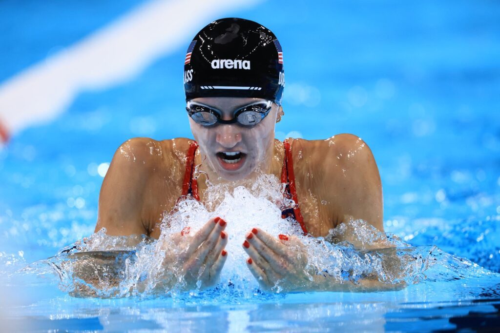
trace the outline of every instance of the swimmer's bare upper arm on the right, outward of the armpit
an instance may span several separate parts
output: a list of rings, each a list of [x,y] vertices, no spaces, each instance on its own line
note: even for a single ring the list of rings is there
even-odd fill
[[[332,187],[337,224],[345,218],[362,219],[383,231],[382,185],[378,168],[366,143],[351,134],[335,135],[328,144],[325,176]]]

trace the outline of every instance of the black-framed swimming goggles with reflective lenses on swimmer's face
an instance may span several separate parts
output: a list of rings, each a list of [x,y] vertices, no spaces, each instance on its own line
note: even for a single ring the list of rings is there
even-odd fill
[[[201,103],[188,101],[186,111],[195,123],[203,126],[219,124],[234,124],[251,127],[258,124],[269,113],[272,101],[258,101],[245,105],[234,111],[230,120],[222,120],[221,112]]]

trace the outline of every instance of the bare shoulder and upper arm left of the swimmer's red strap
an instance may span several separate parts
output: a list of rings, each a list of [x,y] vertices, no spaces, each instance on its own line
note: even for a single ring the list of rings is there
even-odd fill
[[[149,234],[179,191],[183,155],[189,143],[183,138],[123,142],[102,182],[95,230],[104,227],[115,236]]]

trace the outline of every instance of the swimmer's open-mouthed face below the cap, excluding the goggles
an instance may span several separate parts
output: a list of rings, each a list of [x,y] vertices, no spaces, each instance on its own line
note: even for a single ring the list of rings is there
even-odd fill
[[[242,97],[200,97],[193,102],[219,110],[223,120],[234,118],[238,108],[257,102],[261,98]],[[274,125],[278,106],[272,103],[271,110],[264,119],[253,127],[234,124],[203,126],[189,117],[194,139],[201,152],[206,155],[208,166],[219,177],[228,181],[241,180],[256,172],[266,162],[267,152],[274,142]]]

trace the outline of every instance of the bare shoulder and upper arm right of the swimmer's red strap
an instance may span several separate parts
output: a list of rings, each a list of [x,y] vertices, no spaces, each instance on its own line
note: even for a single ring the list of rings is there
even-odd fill
[[[383,231],[380,175],[361,138],[344,133],[325,140],[295,140],[294,146],[307,157],[317,194],[330,203],[333,225],[352,217]]]

